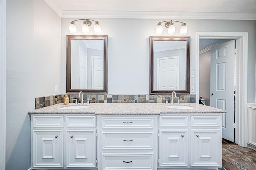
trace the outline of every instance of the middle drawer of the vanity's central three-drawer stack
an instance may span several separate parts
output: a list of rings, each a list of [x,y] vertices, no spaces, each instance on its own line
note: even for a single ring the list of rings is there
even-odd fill
[[[152,149],[153,132],[103,132],[103,150],[109,149]]]

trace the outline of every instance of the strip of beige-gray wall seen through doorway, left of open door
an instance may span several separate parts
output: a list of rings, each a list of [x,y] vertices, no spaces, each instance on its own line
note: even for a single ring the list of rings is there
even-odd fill
[[[211,51],[204,52],[199,56],[199,95],[206,101],[205,104],[210,106],[210,66],[211,66]]]

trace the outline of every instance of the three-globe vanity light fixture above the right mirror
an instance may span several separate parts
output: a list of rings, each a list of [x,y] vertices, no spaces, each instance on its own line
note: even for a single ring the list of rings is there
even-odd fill
[[[174,20],[170,20],[170,21],[162,21],[162,22],[166,22],[164,24],[164,26],[166,28],[168,28],[168,34],[169,35],[173,35],[175,32],[175,26],[173,24],[173,22],[180,22],[180,21],[174,21]],[[163,33],[163,26],[162,26],[162,22],[158,22],[157,27],[156,27],[156,35],[162,35]],[[184,36],[187,34],[188,32],[188,27],[186,26],[186,23],[184,22],[180,22],[181,23],[181,27],[180,27],[180,35]]]

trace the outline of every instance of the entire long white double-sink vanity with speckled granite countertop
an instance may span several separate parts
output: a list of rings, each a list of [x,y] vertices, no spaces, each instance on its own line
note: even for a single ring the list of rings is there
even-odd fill
[[[222,167],[222,114],[195,103],[56,104],[32,110],[32,169],[212,170]],[[75,107],[77,107],[76,105]],[[86,105],[84,105],[86,107]],[[191,108],[184,108],[191,107]]]

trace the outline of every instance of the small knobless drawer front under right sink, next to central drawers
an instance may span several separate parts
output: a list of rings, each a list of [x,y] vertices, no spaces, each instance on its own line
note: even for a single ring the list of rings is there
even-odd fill
[[[188,127],[188,116],[160,116],[159,127]]]

